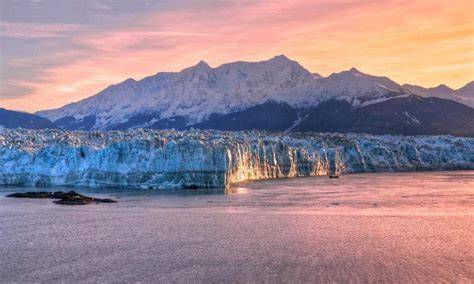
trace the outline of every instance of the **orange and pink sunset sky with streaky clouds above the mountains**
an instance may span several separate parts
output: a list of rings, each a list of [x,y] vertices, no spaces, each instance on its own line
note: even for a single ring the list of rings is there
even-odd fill
[[[127,78],[285,54],[323,76],[474,80],[474,0],[2,0],[0,107],[37,111]]]

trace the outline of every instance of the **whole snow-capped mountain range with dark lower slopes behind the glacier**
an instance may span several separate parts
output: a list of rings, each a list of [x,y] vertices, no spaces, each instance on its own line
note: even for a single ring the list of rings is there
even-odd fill
[[[221,130],[474,136],[474,82],[400,85],[352,68],[323,77],[284,55],[127,79],[36,115],[71,130]]]

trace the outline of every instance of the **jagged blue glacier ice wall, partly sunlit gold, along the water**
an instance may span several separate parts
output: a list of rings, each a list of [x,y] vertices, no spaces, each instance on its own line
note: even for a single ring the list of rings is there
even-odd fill
[[[345,173],[474,169],[474,139],[451,136],[2,129],[0,185],[225,187],[327,175],[335,151]]]

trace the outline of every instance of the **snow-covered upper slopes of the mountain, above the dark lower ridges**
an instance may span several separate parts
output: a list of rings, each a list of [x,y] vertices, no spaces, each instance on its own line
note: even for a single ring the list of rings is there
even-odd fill
[[[153,121],[173,117],[183,117],[191,125],[212,113],[227,114],[270,100],[308,107],[338,98],[358,105],[403,93],[388,78],[356,69],[325,78],[280,55],[216,68],[201,61],[178,73],[158,73],[140,81],[127,79],[95,96],[37,114],[52,121],[62,119],[73,126],[84,126],[84,120],[93,121],[92,129],[113,129],[143,114],[148,120],[133,127],[148,127]]]

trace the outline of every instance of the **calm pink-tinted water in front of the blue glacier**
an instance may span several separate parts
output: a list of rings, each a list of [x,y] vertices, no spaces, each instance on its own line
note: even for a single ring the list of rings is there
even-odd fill
[[[474,281],[474,171],[4,198],[27,190],[0,188],[0,282]]]

